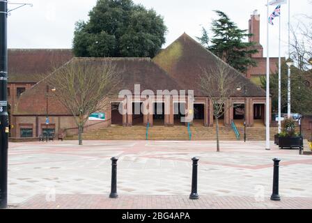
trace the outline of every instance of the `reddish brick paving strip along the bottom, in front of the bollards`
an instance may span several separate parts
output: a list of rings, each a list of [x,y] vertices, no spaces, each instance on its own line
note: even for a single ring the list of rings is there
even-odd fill
[[[63,194],[55,201],[45,195],[28,199],[17,209],[311,209],[312,198],[281,198],[281,201],[256,201],[253,197],[201,196],[190,200],[187,196],[122,196],[109,199],[94,194]]]

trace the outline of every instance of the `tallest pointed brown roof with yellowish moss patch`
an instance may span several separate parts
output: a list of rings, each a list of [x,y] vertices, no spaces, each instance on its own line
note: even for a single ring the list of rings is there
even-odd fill
[[[211,70],[215,68],[217,62],[220,62],[221,59],[186,33],[183,33],[169,47],[159,52],[153,61],[166,70],[173,79],[176,79],[178,84],[185,90],[194,90],[196,96],[207,96],[200,90],[199,77],[203,69]],[[224,62],[222,61],[222,63]],[[233,79],[233,89],[237,88],[235,83],[241,83],[246,85],[248,97],[265,97],[263,89],[253,84],[247,77],[231,66],[228,67],[233,77],[236,77],[236,79]],[[241,96],[243,96],[243,93],[236,91],[235,95],[233,95],[233,97]]]

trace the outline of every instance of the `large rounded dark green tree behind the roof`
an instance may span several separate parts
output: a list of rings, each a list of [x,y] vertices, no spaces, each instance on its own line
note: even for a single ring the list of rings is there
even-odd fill
[[[154,57],[165,43],[164,19],[132,0],[98,0],[77,22],[73,51],[83,57]]]

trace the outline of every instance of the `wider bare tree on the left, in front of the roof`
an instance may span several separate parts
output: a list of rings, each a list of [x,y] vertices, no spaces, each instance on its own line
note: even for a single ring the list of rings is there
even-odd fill
[[[54,96],[75,118],[79,145],[88,117],[107,106],[107,99],[115,93],[119,74],[116,66],[106,59],[72,59],[45,78],[56,89]]]

